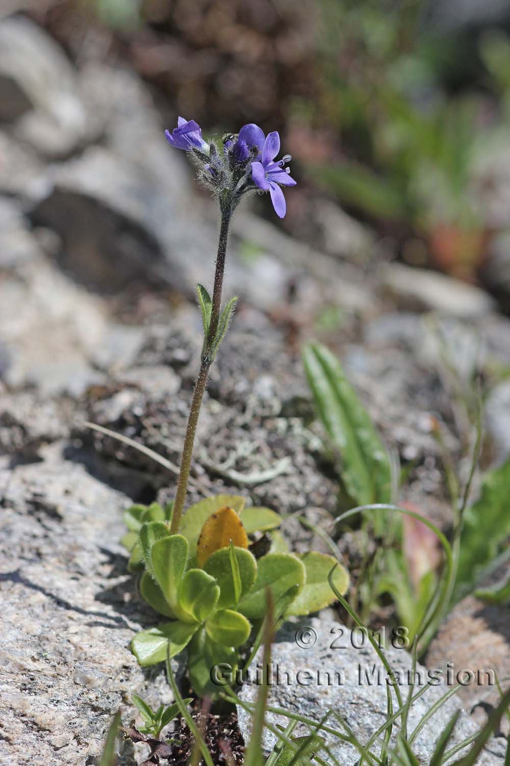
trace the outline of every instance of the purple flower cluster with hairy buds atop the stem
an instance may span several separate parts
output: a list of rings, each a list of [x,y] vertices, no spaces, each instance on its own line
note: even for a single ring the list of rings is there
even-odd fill
[[[284,218],[287,211],[281,186],[295,186],[286,167],[291,155],[275,160],[280,152],[277,131],[265,136],[261,128],[249,123],[238,135],[227,135],[223,146],[206,142],[197,123],[179,117],[177,128],[165,132],[167,142],[175,149],[192,152],[202,168],[202,178],[216,194],[226,197],[231,209],[247,191],[269,191],[274,211]]]

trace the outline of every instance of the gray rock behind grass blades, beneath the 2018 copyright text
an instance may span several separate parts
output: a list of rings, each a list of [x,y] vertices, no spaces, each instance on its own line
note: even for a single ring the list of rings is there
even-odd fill
[[[343,630],[343,633],[339,633]],[[306,715],[313,722],[320,722],[329,710],[333,710],[351,728],[352,732],[365,744],[375,731],[385,722],[386,717],[386,688],[385,669],[375,651],[365,637],[360,648],[361,635],[339,623],[330,620],[313,618],[302,623],[286,624],[276,637],[271,653],[272,669],[269,677],[272,685],[269,692],[268,705],[282,708],[291,713]],[[317,643],[313,643],[314,639]],[[300,648],[299,643],[304,644]],[[336,644],[331,648],[331,644]],[[408,672],[411,669],[411,656],[405,650],[389,648],[385,650],[388,662],[391,664],[402,697],[405,699],[409,689]],[[243,702],[252,704],[257,696],[257,664],[261,668],[261,650],[255,656],[248,678],[254,683],[245,683],[239,696]],[[444,664],[444,663],[443,663]],[[261,669],[258,671],[259,677]],[[427,671],[419,666],[421,686],[427,683]],[[287,674],[287,675],[285,675]],[[335,675],[337,674],[337,675]],[[372,683],[370,683],[372,682]],[[419,686],[415,687],[415,691]],[[434,686],[425,692],[411,706],[408,717],[408,732],[412,732],[421,717],[440,696],[447,691],[447,686]],[[393,693],[394,709],[398,707],[395,692]],[[432,716],[427,725],[421,730],[414,742],[414,753],[420,764],[428,764],[427,758],[434,752],[434,744],[442,732],[447,720],[460,707],[460,702],[454,696],[436,715]],[[242,735],[249,738],[251,733],[250,716],[238,705],[239,725]],[[272,712],[266,720],[271,725],[286,726],[289,719]],[[334,716],[326,721],[336,730],[343,731]],[[398,722],[393,726],[391,741],[399,730]],[[307,725],[298,724],[293,736],[307,735],[310,729]],[[476,732],[476,725],[463,712],[457,722],[451,746],[462,741]],[[343,766],[354,766],[359,760],[359,751],[354,745],[339,741],[334,735],[323,733],[331,755]],[[276,742],[276,736],[266,728],[261,747],[269,752]],[[379,748],[374,751],[379,752]],[[321,758],[329,761],[326,753]],[[458,757],[458,756],[457,756]],[[505,758],[505,740],[492,739],[482,752],[478,761],[479,766],[498,766]]]

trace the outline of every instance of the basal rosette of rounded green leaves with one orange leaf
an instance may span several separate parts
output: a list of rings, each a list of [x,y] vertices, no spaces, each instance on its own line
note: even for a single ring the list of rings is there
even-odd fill
[[[125,513],[132,558],[136,552],[143,568],[141,595],[170,620],[138,633],[132,650],[141,665],[152,665],[187,647],[197,693],[217,692],[211,686],[213,666],[237,666],[237,650],[249,640],[252,623],[265,617],[268,590],[284,618],[336,600],[328,582],[335,565],[337,591],[343,594],[348,587],[349,575],[335,558],[288,553],[278,514],[245,508],[240,496],[219,495],[191,506],[178,535],[171,534],[170,519],[171,506],[156,503]],[[250,550],[255,533],[270,536],[269,552],[258,558]]]

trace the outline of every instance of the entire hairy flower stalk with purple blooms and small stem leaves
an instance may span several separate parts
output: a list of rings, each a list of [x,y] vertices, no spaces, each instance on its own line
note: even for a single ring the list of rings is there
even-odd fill
[[[248,192],[269,191],[274,211],[280,218],[283,218],[286,205],[281,185],[294,186],[296,182],[289,175],[289,169],[284,167],[290,161],[290,155],[285,155],[278,162],[274,161],[280,150],[278,133],[269,133],[266,138],[261,128],[253,123],[243,126],[238,136],[225,136],[221,146],[215,142],[206,142],[202,137],[200,126],[194,120],[186,120],[184,117],[179,117],[177,128],[172,133],[167,130],[165,136],[167,142],[175,149],[183,149],[190,153],[199,167],[200,180],[207,188],[210,188],[210,191],[218,199],[221,211],[213,297],[210,298],[205,287],[197,286],[203,316],[203,346],[200,370],[193,388],[190,414],[184,437],[174,513],[171,521],[171,533],[176,534],[179,532],[184,511],[193,456],[193,443],[209,369],[216,356],[218,346],[229,327],[237,300],[232,298],[222,310],[226,244],[232,212],[236,209],[242,196]]]

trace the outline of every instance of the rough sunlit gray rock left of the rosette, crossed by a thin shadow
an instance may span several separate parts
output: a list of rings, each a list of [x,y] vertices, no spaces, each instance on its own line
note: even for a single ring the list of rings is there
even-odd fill
[[[57,444],[44,458],[0,469],[5,766],[94,763],[112,714],[132,715],[133,692],[171,699],[161,669],[142,672],[129,650],[154,614],[118,542],[128,497],[63,460]],[[122,763],[134,762],[128,748]]]

